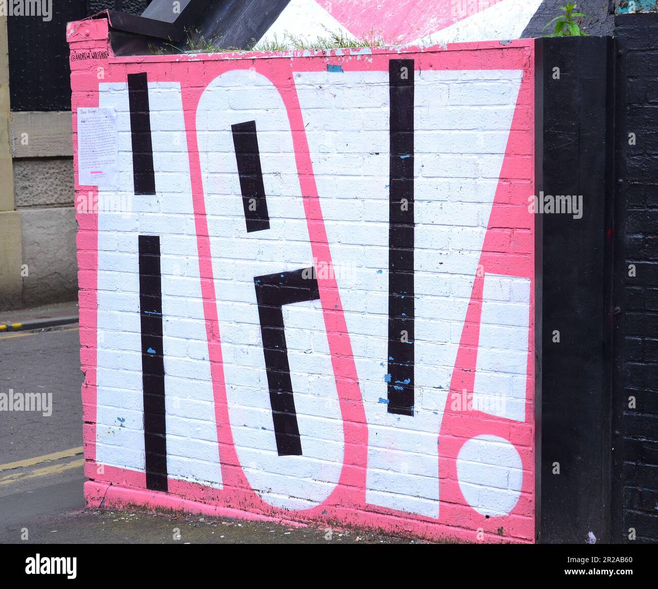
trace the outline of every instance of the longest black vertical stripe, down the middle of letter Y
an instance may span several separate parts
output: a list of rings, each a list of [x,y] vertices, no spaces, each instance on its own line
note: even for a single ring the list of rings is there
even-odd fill
[[[414,405],[414,61],[392,59],[388,229],[388,413]]]

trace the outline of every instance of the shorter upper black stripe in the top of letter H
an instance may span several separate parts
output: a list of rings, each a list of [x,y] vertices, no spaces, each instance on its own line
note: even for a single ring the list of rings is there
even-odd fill
[[[155,194],[149,86],[145,73],[128,74],[132,177],[135,194]]]

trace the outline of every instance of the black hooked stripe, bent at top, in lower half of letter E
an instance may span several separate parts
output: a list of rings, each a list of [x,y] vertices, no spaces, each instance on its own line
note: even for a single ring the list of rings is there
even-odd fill
[[[282,307],[319,299],[318,281],[314,269],[305,268],[256,276],[253,282],[261,320],[276,449],[280,456],[301,456]]]

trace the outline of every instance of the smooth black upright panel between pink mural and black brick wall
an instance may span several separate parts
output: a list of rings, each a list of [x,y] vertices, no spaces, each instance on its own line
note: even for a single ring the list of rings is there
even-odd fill
[[[582,195],[582,218],[536,215],[538,535],[608,542],[613,41],[536,47],[536,191]]]

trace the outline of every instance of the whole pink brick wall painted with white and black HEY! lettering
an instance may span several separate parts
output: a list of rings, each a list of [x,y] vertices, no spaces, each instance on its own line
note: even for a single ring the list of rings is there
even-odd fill
[[[76,152],[89,504],[534,541],[534,41],[107,39],[68,28],[118,154]]]

